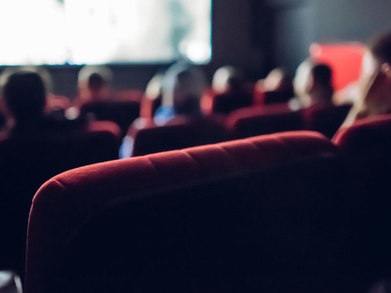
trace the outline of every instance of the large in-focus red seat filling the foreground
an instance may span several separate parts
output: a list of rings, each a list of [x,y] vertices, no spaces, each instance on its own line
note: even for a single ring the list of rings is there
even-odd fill
[[[67,171],[33,199],[26,293],[320,292],[344,173],[307,131]]]

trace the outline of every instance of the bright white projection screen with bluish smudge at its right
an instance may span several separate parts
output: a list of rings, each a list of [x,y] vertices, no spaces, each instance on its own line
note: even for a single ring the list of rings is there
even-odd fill
[[[211,0],[0,0],[0,65],[211,58]]]

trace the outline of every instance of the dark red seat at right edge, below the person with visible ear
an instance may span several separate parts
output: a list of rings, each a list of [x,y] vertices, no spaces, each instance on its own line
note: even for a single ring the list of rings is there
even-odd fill
[[[354,209],[343,254],[352,278],[373,284],[391,277],[391,116],[360,120],[340,129],[333,142],[354,171]]]

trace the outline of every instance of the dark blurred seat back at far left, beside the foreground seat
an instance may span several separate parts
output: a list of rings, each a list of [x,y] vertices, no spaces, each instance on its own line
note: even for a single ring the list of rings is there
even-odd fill
[[[0,269],[24,273],[26,229],[36,190],[75,167],[118,158],[119,127],[92,122],[78,131],[11,135],[0,141]],[[6,239],[6,240],[5,240]]]

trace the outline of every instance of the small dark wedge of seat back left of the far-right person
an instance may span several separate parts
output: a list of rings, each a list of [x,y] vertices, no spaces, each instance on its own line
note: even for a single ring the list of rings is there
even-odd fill
[[[304,108],[305,129],[318,131],[331,139],[345,121],[350,108],[351,105]]]

